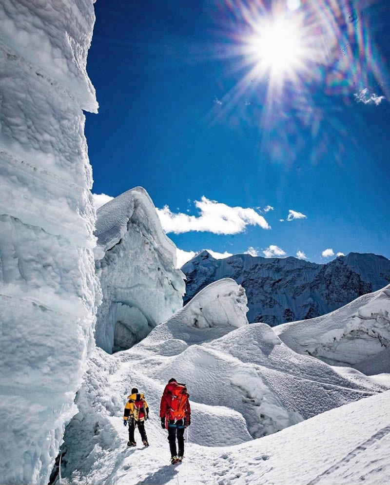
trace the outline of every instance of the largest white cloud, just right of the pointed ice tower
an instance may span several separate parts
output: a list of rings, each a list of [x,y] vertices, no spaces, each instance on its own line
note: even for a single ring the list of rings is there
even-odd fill
[[[245,231],[248,225],[271,229],[265,218],[251,208],[230,207],[205,196],[201,200],[195,200],[195,207],[200,211],[198,216],[173,213],[167,205],[156,211],[166,233],[207,231],[215,234],[237,234]]]

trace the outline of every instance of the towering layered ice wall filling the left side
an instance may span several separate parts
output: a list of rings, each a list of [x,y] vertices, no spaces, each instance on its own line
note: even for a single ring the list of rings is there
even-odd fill
[[[0,483],[47,483],[94,348],[93,0],[0,2]]]

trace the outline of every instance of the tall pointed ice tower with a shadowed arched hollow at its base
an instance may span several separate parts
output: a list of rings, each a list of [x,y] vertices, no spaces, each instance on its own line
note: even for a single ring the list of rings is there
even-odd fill
[[[96,343],[111,353],[136,344],[182,308],[184,275],[176,270],[176,246],[142,187],[100,207],[95,234],[103,292]]]

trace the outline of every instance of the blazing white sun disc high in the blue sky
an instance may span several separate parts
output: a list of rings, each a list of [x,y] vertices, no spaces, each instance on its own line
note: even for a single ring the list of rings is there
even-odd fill
[[[263,19],[247,39],[247,54],[258,75],[274,80],[293,78],[305,68],[307,46],[298,19]]]

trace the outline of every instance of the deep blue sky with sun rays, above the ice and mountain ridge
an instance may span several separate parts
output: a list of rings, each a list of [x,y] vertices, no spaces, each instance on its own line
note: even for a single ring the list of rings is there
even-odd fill
[[[169,207],[163,226],[186,252],[390,257],[390,5],[309,3],[96,2],[93,192],[141,185]],[[271,65],[260,64],[258,32],[281,17],[300,19],[299,42],[314,48],[265,41]]]

